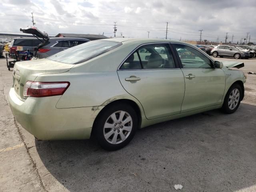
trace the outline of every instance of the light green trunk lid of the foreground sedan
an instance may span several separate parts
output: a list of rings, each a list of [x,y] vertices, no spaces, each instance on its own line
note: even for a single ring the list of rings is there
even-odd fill
[[[23,96],[24,86],[27,81],[34,81],[42,74],[58,74],[70,70],[73,64],[64,64],[48,59],[16,62],[13,69],[13,86],[20,100],[26,100]]]

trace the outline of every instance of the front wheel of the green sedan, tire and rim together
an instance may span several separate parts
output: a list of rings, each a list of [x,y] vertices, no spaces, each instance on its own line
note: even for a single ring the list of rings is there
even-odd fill
[[[227,114],[234,113],[240,105],[241,98],[241,86],[239,84],[232,85],[225,96],[222,111]]]

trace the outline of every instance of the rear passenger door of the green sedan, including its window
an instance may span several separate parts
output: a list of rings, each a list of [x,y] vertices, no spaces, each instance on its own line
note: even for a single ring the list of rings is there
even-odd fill
[[[146,118],[180,114],[184,76],[169,43],[141,46],[127,57],[117,72],[124,89],[142,104]]]

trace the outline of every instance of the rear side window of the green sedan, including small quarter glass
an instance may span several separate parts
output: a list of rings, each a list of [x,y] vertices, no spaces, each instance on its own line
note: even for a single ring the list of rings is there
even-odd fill
[[[161,68],[175,68],[169,44],[141,46],[120,67],[122,70]]]

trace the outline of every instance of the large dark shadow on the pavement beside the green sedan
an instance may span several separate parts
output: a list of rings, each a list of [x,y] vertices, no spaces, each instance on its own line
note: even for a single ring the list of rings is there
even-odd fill
[[[77,191],[236,191],[256,185],[256,106],[213,110],[138,130],[108,152],[94,140],[36,141],[46,169]],[[47,178],[42,175],[44,184]],[[47,177],[47,176],[45,176]]]

